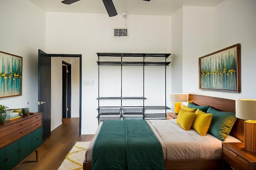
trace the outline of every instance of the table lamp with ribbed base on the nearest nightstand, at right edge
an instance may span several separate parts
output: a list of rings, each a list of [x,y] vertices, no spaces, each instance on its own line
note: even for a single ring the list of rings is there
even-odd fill
[[[236,117],[244,121],[244,148],[256,152],[256,99],[237,99]]]

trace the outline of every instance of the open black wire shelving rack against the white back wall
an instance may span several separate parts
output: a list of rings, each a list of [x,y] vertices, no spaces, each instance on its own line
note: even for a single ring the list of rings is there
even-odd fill
[[[171,55],[170,53],[97,53],[98,55],[98,73],[100,73],[100,66],[120,66],[121,67],[121,96],[120,97],[100,97],[100,86],[98,86],[98,107],[101,109],[98,109],[99,115],[100,113],[112,113],[112,108],[110,107],[110,111],[108,111],[108,108],[106,107],[100,107],[100,100],[120,100],[120,108],[121,108],[121,115],[126,115],[126,118],[131,119],[138,119],[138,118],[146,118],[146,119],[166,119],[166,109],[170,109],[170,107],[167,106],[144,106],[144,100],[146,99],[144,97],[144,70],[145,66],[165,66],[165,94],[166,94],[166,66],[169,66],[171,62],[166,61],[166,59]],[[100,57],[118,57],[118,58],[112,58],[111,61],[100,61]],[[126,57],[138,57],[134,58],[132,61]],[[150,59],[151,61],[146,61],[147,57],[154,57],[155,59]],[[158,58],[164,58],[158,59]],[[125,59],[126,58],[126,59]],[[140,59],[139,59],[140,58]],[[112,61],[114,60],[114,61]],[[143,97],[123,97],[122,96],[122,68],[123,66],[143,66]],[[98,83],[100,82],[100,74],[98,75]],[[135,99],[135,100],[143,100],[143,106],[142,108],[138,109],[132,106],[123,106],[122,100],[123,99]],[[166,98],[165,98],[165,105],[166,105]],[[119,109],[119,107],[118,107]],[[165,110],[165,113],[144,113],[145,110]],[[119,110],[118,110],[119,111]],[[157,111],[158,112],[158,111]],[[159,111],[162,112],[162,111]],[[105,113],[105,114],[106,114]],[[135,116],[137,114],[143,114],[143,117]],[[145,115],[144,115],[145,114]],[[127,115],[132,115],[132,117],[127,117]],[[116,117],[114,117],[116,118]],[[114,119],[111,117],[111,119]],[[119,118],[119,117],[118,117]],[[100,119],[99,119],[100,121]],[[102,118],[103,121],[103,118]]]

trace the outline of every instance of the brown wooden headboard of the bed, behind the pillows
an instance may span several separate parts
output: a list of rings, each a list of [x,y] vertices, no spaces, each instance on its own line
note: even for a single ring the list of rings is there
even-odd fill
[[[227,111],[236,113],[236,101],[224,98],[216,98],[211,96],[202,96],[197,94],[188,94],[188,102],[193,102],[196,105],[200,106],[211,106],[219,111]],[[236,119],[230,135],[244,141],[244,120]]]

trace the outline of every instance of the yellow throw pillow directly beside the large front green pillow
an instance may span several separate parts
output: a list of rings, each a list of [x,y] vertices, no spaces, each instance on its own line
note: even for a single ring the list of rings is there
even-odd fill
[[[201,136],[205,136],[211,125],[211,121],[212,113],[204,113],[200,109],[197,109],[192,128],[195,129]]]

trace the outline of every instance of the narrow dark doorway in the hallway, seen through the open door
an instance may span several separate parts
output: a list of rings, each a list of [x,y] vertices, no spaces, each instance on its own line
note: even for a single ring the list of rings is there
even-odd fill
[[[62,119],[71,118],[71,64],[62,61]]]

